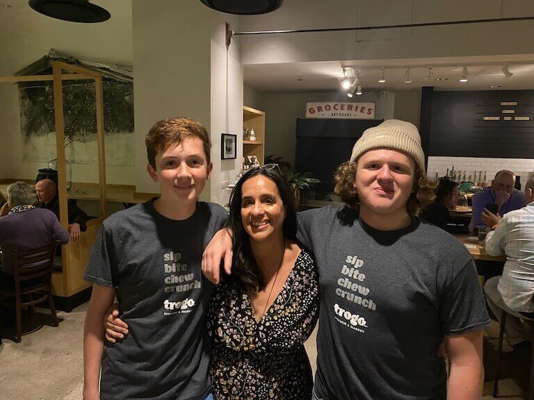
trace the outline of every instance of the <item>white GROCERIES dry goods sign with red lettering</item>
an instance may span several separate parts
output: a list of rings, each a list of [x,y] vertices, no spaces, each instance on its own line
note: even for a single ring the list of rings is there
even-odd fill
[[[375,103],[306,103],[306,118],[374,119]]]

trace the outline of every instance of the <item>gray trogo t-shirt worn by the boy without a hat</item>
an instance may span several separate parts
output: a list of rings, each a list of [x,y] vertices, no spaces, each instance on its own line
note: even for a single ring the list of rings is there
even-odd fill
[[[106,342],[100,396],[108,399],[204,399],[211,389],[205,315],[211,284],[202,252],[227,219],[225,209],[197,203],[175,221],[152,201],[108,217],[95,240],[85,279],[115,287],[122,342]]]

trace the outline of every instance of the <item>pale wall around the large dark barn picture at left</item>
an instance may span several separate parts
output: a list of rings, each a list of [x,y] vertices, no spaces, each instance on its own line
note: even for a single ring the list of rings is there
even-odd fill
[[[13,8],[0,12],[0,76],[11,76],[54,48],[86,60],[131,65],[131,2],[100,0],[111,19],[100,24],[59,21],[31,10],[27,1],[9,1]],[[35,178],[47,163],[22,160],[17,86],[0,83],[0,178]],[[97,158],[95,154],[95,158]],[[134,184],[133,167],[106,167],[108,183]],[[73,181],[98,182],[96,165],[75,164]]]

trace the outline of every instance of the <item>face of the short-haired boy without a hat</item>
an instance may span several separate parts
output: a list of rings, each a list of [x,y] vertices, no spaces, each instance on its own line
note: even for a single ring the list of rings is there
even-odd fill
[[[202,140],[196,137],[185,138],[180,144],[157,153],[156,169],[147,165],[152,180],[161,185],[161,198],[179,202],[197,201],[211,168],[204,154]]]

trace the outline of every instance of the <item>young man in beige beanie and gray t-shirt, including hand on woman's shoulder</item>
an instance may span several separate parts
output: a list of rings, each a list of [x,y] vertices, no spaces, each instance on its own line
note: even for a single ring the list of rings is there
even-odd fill
[[[467,250],[414,216],[433,197],[417,128],[389,120],[367,129],[336,181],[353,207],[298,215],[321,285],[314,398],[480,399],[489,317]],[[204,253],[213,281],[209,260],[227,260],[227,243],[220,232]]]

